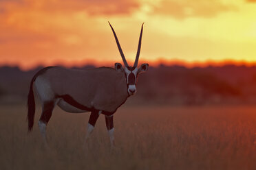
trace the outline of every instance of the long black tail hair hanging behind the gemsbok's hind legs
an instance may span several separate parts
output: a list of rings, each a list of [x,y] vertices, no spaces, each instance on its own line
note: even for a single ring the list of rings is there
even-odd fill
[[[28,93],[28,132],[32,131],[34,125],[34,112],[36,111],[36,106],[34,103],[34,92],[33,92],[33,84],[34,84],[34,77],[30,82],[30,92]]]

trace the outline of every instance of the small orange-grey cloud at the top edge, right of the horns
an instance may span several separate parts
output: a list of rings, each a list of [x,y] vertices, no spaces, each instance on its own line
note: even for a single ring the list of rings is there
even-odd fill
[[[233,5],[224,4],[220,0],[163,0],[154,7],[153,12],[184,19],[192,16],[209,18],[231,10],[236,10],[236,8]]]

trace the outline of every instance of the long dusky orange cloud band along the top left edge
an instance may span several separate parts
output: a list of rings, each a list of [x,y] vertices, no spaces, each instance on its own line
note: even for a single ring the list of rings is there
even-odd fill
[[[111,16],[129,15],[134,10],[140,8],[140,3],[136,0],[0,0],[2,8],[12,5],[17,8],[28,8],[29,10],[41,10],[45,12],[74,12],[83,11],[90,16]]]

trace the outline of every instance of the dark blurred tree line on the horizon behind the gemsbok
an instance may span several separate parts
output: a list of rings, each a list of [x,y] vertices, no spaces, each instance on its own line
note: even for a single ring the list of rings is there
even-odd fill
[[[0,97],[10,95],[25,98],[32,76],[41,68],[21,71],[18,67],[0,67]],[[173,105],[256,104],[255,96],[256,66],[225,65],[188,69],[162,64],[150,66],[147,73],[139,75],[134,102]]]

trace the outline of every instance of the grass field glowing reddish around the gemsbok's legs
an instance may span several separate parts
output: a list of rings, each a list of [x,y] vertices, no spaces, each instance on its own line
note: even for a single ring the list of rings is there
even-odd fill
[[[100,115],[87,145],[89,113],[54,110],[43,147],[25,106],[0,106],[0,169],[256,169],[256,107],[122,106],[111,149]]]

